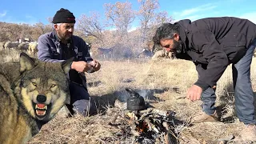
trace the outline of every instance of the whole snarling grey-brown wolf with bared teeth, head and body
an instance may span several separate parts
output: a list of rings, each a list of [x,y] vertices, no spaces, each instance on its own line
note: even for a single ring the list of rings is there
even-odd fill
[[[72,59],[41,62],[20,54],[0,64],[0,143],[26,143],[70,102],[66,74]]]

